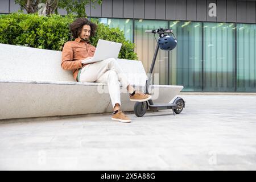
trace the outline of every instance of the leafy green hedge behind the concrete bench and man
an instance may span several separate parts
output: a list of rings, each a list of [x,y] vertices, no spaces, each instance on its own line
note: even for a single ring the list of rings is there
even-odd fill
[[[69,24],[75,18],[73,15],[48,17],[22,13],[0,15],[0,43],[61,51],[63,45],[71,40]],[[96,36],[90,40],[93,46],[97,45],[98,39],[122,43],[118,57],[138,59],[134,52],[134,44],[125,40],[125,35],[119,28],[109,28],[105,24],[98,23],[97,19],[92,21],[98,26]]]

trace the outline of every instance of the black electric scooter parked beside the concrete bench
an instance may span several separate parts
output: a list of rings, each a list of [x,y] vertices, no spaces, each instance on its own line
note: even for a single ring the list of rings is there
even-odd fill
[[[163,29],[163,28],[159,28],[157,30],[146,30],[145,32],[146,33],[159,34],[159,39],[160,38],[165,38],[168,34],[174,35],[172,33],[172,30]],[[165,39],[165,40],[167,40],[167,39]],[[150,77],[152,75],[152,72],[153,72],[153,69],[154,69],[154,66],[155,66],[156,56],[158,55],[158,51],[159,51],[159,44],[160,44],[160,40],[158,41],[157,46],[155,48],[154,57],[153,57],[153,60],[152,60],[150,71],[149,71],[148,76],[147,76],[145,89],[144,89],[144,93],[146,93],[146,94],[150,94],[150,93],[148,93],[148,87],[149,87],[148,80],[150,80]],[[172,109],[173,114],[174,113],[180,114],[184,107],[185,107],[185,101],[181,97],[175,98],[175,100],[171,104],[169,104],[169,103],[168,104],[154,104],[154,102],[152,100],[148,100],[148,101],[145,101],[145,102],[135,102],[134,114],[137,115],[137,117],[142,117],[146,113],[147,110],[158,111],[158,110],[162,110],[162,109]]]

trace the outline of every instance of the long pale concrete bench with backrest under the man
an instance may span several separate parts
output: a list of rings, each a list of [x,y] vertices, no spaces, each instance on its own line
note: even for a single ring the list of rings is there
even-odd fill
[[[141,61],[118,59],[135,88],[147,79]],[[72,71],[60,67],[61,52],[0,44],[0,119],[105,113],[112,111],[108,86],[76,82]],[[139,79],[134,79],[139,76]],[[171,101],[183,86],[153,85],[156,103]],[[125,88],[122,110],[133,111]]]

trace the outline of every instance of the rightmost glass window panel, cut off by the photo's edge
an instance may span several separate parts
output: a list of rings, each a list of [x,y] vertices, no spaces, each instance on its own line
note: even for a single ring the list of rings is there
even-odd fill
[[[237,24],[237,91],[256,91],[256,25]]]

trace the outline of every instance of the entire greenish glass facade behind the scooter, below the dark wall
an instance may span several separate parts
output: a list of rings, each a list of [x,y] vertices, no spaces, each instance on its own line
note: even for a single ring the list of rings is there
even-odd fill
[[[161,85],[188,92],[256,92],[256,24],[100,18],[119,27],[149,71],[158,35],[145,30],[171,28],[177,47],[159,49],[153,73]]]

